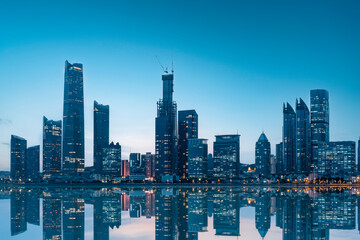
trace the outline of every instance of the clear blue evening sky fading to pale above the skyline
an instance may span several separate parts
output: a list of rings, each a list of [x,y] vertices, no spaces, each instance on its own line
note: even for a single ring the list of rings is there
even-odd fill
[[[62,120],[65,60],[84,64],[85,145],[93,101],[110,105],[110,138],[154,152],[163,65],[174,59],[178,110],[196,109],[199,137],[241,134],[254,162],[261,131],[274,152],[282,103],[330,93],[331,140],[360,135],[359,1],[0,0],[0,169],[10,135],[41,145],[42,117]]]

